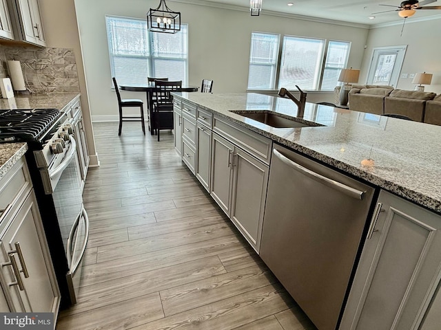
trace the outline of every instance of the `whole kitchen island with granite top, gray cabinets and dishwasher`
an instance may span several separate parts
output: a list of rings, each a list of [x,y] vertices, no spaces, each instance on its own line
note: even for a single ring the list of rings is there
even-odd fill
[[[174,96],[183,162],[318,329],[437,329],[440,126],[298,113],[260,94]]]

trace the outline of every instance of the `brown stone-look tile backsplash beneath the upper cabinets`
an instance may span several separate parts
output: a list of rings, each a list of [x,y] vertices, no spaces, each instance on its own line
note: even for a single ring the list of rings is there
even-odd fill
[[[80,91],[73,50],[0,45],[0,78],[9,77],[9,60],[20,61],[26,87],[31,93]]]

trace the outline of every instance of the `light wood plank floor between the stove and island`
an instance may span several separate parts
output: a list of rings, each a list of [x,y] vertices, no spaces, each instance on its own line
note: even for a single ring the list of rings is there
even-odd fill
[[[173,135],[94,124],[79,303],[57,329],[316,329],[181,162]]]

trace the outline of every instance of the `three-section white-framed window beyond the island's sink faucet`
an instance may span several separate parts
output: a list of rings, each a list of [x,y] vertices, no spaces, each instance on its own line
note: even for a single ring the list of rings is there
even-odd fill
[[[351,43],[284,36],[278,65],[277,34],[252,33],[248,89],[332,90],[347,65]],[[325,52],[326,50],[326,52]]]

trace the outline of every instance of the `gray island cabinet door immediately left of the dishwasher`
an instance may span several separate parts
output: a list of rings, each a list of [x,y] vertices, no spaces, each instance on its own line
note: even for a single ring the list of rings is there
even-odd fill
[[[233,155],[231,219],[256,252],[260,248],[269,166],[238,148]]]

